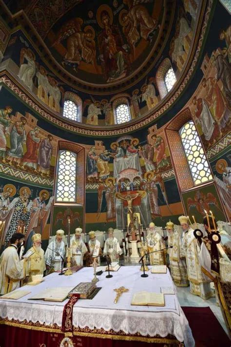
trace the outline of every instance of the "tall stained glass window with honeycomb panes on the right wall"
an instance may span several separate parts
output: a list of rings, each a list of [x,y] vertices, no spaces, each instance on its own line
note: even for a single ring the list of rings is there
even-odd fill
[[[193,121],[179,131],[195,185],[212,181],[212,173]]]

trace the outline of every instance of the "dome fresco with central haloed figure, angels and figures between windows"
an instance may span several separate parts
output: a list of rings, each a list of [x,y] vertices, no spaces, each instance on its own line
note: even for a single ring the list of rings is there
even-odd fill
[[[205,3],[192,6],[189,0],[35,0],[8,6],[16,16],[23,9],[32,23],[34,44],[15,33],[5,52],[5,60],[14,55],[16,78],[57,118],[63,119],[66,93],[72,93],[78,115],[63,122],[89,129],[115,127],[118,102],[129,110],[121,118],[125,124],[158,111],[187,73],[205,10]]]

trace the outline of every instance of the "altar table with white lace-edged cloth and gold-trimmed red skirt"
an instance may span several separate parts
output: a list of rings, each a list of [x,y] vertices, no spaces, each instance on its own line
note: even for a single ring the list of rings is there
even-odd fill
[[[140,277],[140,266],[121,266],[117,272],[112,272],[113,277],[105,278],[106,272],[97,276],[99,281],[96,286],[101,287],[99,292],[92,300],[79,299],[73,308],[73,338],[99,338],[95,340],[110,339],[120,340],[120,346],[123,346],[125,340],[139,341],[168,345],[184,343],[186,347],[194,346],[194,340],[189,323],[179,305],[175,294],[165,295],[165,306],[131,306],[133,294],[139,291],[150,291],[160,293],[161,286],[174,287],[169,270],[166,274],[152,274],[148,271],[149,277]],[[151,269],[151,266],[149,267]],[[0,334],[4,331],[8,345],[18,346],[13,341],[17,334],[44,333],[49,332],[52,341],[56,344],[46,345],[41,339],[45,338],[38,335],[38,347],[50,346],[72,346],[64,342],[59,343],[65,335],[61,332],[63,307],[68,299],[59,302],[44,302],[42,300],[28,300],[45,288],[49,287],[74,287],[80,282],[90,282],[93,279],[93,268],[84,267],[71,276],[59,276],[58,273],[52,273],[44,277],[44,282],[36,286],[23,286],[19,290],[30,290],[31,293],[18,299],[6,300],[0,299]],[[123,293],[117,304],[114,304],[116,292],[113,290],[120,286],[125,286],[129,291]],[[176,289],[175,289],[176,292]],[[12,329],[18,328],[18,332]],[[27,330],[26,330],[27,329]],[[37,331],[35,331],[37,330]],[[58,334],[62,334],[58,335]],[[33,335],[31,335],[33,338]],[[34,335],[35,336],[35,335]],[[58,340],[59,336],[59,340]],[[169,336],[173,338],[169,339]],[[176,341],[177,340],[177,341]],[[59,342],[58,342],[59,341]],[[75,340],[77,341],[77,340]],[[108,345],[104,340],[104,346]],[[172,341],[172,342],[171,342]],[[136,343],[135,343],[136,344]],[[73,346],[102,346],[96,343],[84,344],[75,342]],[[26,346],[26,345],[24,345]],[[114,344],[114,346],[116,346]],[[128,345],[127,345],[128,346]],[[138,344],[136,344],[138,346]],[[150,346],[150,345],[149,345]],[[181,345],[182,346],[182,345]]]

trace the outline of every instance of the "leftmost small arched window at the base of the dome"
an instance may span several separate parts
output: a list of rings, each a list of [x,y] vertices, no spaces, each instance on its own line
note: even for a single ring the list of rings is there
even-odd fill
[[[82,122],[82,100],[72,92],[66,92],[63,103],[63,117]]]

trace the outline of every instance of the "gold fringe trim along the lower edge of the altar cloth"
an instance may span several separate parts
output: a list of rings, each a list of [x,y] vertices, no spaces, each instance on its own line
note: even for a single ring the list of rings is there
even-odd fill
[[[112,335],[112,334],[100,334],[100,333],[94,333],[94,332],[82,332],[82,331],[73,331],[73,335],[66,335],[63,331],[56,328],[48,328],[48,327],[36,327],[36,326],[30,326],[26,324],[20,324],[15,322],[9,322],[0,320],[0,324],[10,326],[10,327],[19,327],[29,330],[42,330],[45,332],[55,332],[59,334],[64,334],[65,336],[83,336],[83,337],[95,337],[100,339],[111,339],[111,340],[123,340],[123,341],[140,341],[140,342],[147,342],[147,343],[164,343],[164,344],[170,344],[174,345],[177,344],[179,346],[182,346],[182,343],[180,343],[178,340],[174,339],[166,339],[166,338],[159,338],[159,337],[145,337],[145,336],[128,336],[128,335]],[[72,334],[72,333],[67,333]]]

